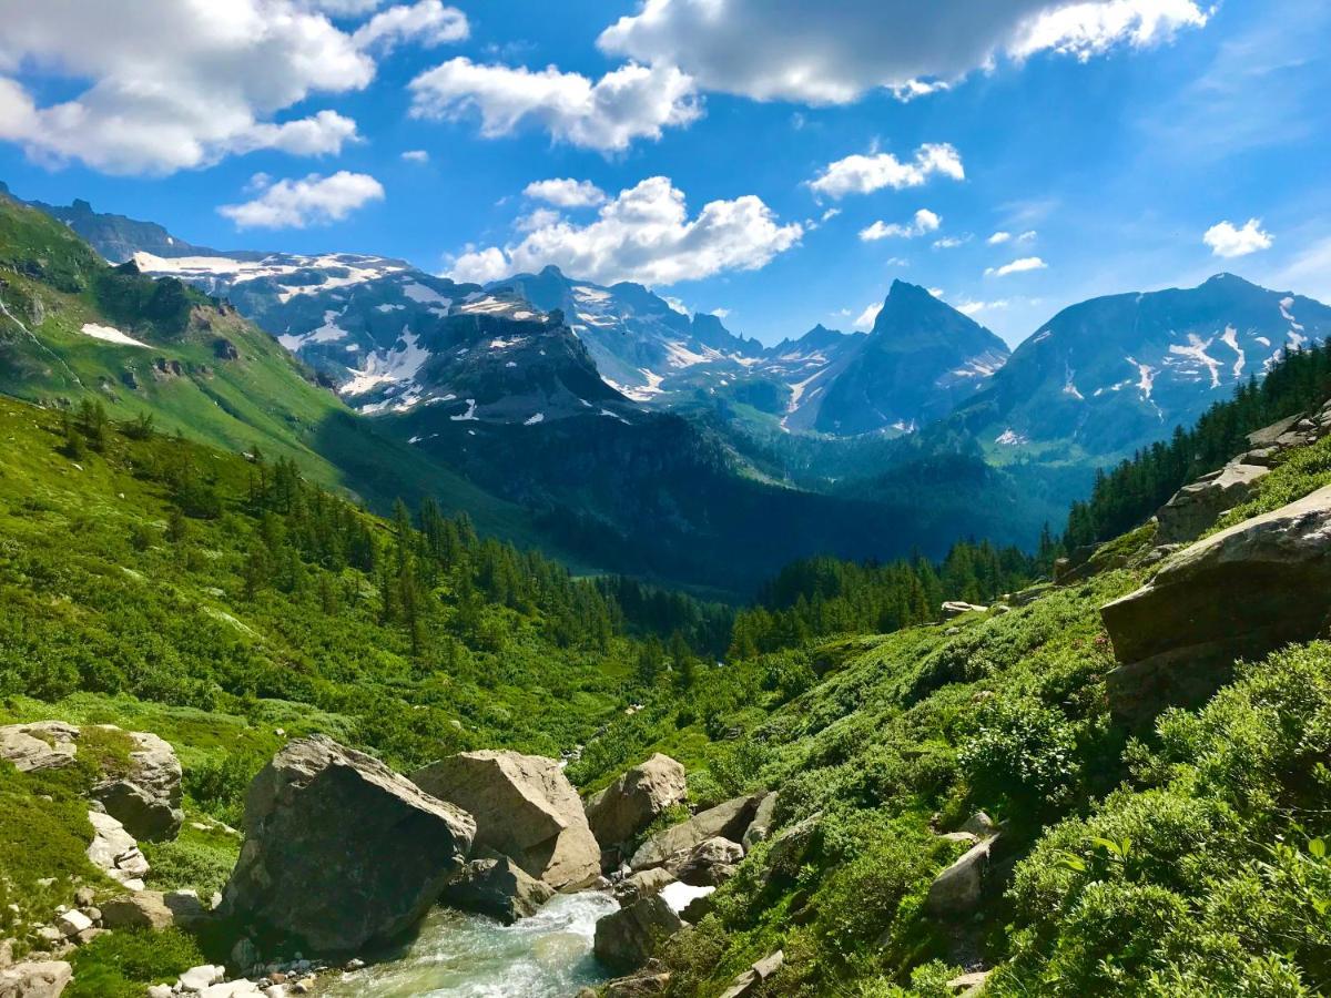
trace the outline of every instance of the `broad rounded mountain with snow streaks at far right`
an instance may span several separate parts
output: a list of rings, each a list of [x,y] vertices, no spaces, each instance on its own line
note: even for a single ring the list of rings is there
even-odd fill
[[[958,418],[1009,456],[1115,458],[1191,424],[1286,350],[1331,335],[1331,307],[1233,274],[1094,298],[1025,341]]]

